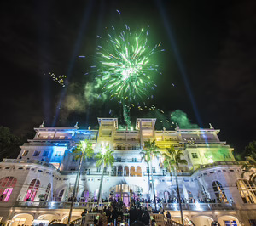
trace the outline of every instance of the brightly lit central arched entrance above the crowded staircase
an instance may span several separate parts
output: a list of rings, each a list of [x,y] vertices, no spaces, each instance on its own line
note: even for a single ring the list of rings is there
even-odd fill
[[[126,206],[129,205],[131,198],[137,199],[137,194],[143,193],[143,189],[137,185],[118,184],[109,189],[109,192],[113,191],[114,198],[120,198]]]

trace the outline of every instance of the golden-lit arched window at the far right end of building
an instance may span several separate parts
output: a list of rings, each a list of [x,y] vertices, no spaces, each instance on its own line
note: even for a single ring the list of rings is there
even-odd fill
[[[256,203],[256,186],[253,182],[239,179],[236,181],[236,187],[244,203]]]

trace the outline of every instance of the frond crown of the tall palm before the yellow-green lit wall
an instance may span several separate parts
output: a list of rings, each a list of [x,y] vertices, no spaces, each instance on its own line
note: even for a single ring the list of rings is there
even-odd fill
[[[164,156],[164,166],[166,169],[171,171],[176,171],[180,164],[188,164],[188,162],[184,159],[181,159],[183,156],[183,150],[175,150],[173,146],[163,152]]]

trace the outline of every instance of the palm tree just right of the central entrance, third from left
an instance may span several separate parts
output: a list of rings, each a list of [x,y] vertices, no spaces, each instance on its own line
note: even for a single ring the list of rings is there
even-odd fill
[[[152,189],[153,189],[153,195],[154,195],[154,210],[156,210],[156,200],[155,200],[155,191],[154,191],[154,177],[153,177],[153,171],[152,171],[152,159],[154,156],[158,156],[161,154],[159,147],[155,144],[154,141],[148,141],[144,142],[144,147],[141,152],[143,154],[143,160],[147,162],[148,166],[150,167],[151,172],[151,180],[152,180]],[[148,184],[150,184],[150,178],[148,177]]]

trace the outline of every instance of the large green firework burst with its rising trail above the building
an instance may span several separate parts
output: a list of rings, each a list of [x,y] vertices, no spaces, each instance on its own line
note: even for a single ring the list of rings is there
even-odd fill
[[[110,30],[107,29],[106,42],[96,48],[98,64],[91,68],[97,68],[96,79],[101,81],[102,94],[123,105],[125,122],[130,126],[131,105],[140,106],[139,101],[154,97],[151,92],[156,84],[152,76],[160,72],[158,65],[149,60],[164,49],[159,50],[161,43],[149,47],[148,30],[131,31],[128,25],[120,32],[113,26]]]

